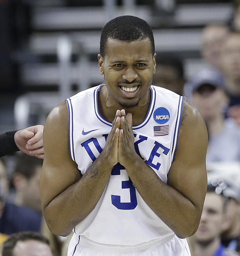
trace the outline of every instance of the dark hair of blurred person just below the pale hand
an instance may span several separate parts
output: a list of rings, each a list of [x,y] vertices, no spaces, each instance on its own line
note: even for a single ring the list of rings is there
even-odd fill
[[[15,173],[20,173],[30,179],[36,173],[38,166],[42,167],[43,159],[19,153],[16,160]]]

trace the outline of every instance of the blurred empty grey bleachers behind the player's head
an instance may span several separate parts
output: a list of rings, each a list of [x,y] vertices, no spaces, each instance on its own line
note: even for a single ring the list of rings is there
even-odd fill
[[[0,0],[0,133],[44,124],[66,97],[103,81],[102,27],[135,15],[153,28],[157,60],[178,59],[189,79],[204,64],[201,31],[230,24],[224,0]]]

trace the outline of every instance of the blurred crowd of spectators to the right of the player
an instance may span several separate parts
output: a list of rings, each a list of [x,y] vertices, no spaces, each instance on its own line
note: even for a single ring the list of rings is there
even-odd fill
[[[240,255],[239,5],[230,24],[203,28],[201,56],[204,68],[188,81],[171,60],[160,63],[153,84],[184,95],[208,130],[208,190],[199,228],[188,238],[192,256]]]

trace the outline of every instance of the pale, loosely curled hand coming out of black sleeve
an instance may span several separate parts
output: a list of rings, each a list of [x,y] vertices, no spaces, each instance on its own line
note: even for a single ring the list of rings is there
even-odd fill
[[[14,134],[14,141],[19,150],[27,155],[43,159],[43,128],[43,125],[35,125],[17,131]]]

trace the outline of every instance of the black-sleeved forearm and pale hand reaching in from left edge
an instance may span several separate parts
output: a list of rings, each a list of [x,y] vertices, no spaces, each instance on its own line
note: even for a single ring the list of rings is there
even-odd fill
[[[16,151],[43,158],[43,125],[30,126],[22,130],[0,134],[0,157]]]

